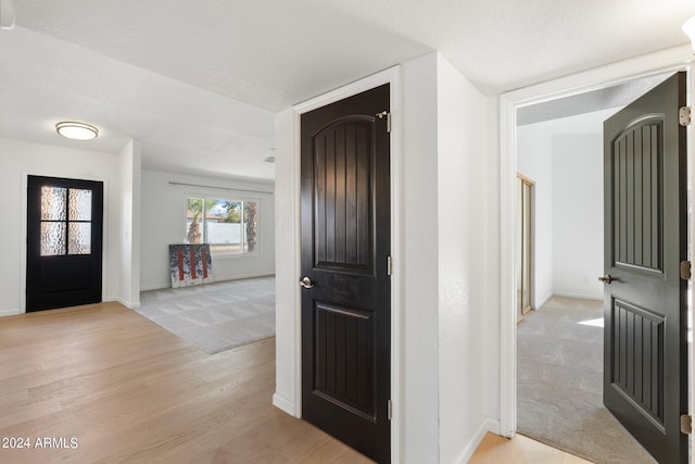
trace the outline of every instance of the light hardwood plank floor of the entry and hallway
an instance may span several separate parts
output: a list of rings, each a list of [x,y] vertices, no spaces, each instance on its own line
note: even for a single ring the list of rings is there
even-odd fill
[[[117,303],[3,317],[0,439],[30,448],[0,442],[0,463],[370,462],[274,407],[274,338],[208,355]],[[489,434],[470,462],[572,457]]]

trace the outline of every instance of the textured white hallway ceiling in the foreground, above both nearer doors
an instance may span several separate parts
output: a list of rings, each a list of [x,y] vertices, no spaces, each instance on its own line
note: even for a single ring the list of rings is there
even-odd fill
[[[494,95],[686,43],[694,0],[18,0],[17,24],[268,110],[440,50]]]

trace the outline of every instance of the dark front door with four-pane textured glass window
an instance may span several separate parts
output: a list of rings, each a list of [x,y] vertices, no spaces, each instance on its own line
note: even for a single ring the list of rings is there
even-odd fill
[[[27,179],[26,310],[101,301],[103,184]]]

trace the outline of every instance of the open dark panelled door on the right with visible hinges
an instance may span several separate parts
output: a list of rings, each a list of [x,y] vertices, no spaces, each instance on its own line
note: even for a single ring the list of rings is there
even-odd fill
[[[604,403],[660,463],[685,463],[685,74],[604,126]]]

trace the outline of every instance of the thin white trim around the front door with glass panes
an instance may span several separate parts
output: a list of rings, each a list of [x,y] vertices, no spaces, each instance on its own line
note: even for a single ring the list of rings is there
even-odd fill
[[[20,311],[17,312],[12,312],[12,314],[0,314],[0,316],[4,316],[4,315],[14,315],[14,314],[26,314],[26,272],[27,272],[27,262],[26,262],[26,253],[27,253],[27,242],[26,242],[26,237],[27,237],[27,204],[28,204],[28,199],[27,199],[27,188],[29,185],[29,176],[42,176],[42,177],[70,177],[70,175],[67,176],[63,176],[62,173],[46,173],[46,172],[35,172],[35,171],[22,171],[21,173],[22,179],[21,179],[21,186],[22,186],[22,191],[23,195],[21,195],[21,200],[22,200],[22,204],[20,205],[21,209],[21,228],[20,228],[20,234],[22,234],[22,237],[25,238],[25,240],[23,241],[23,248],[22,248],[22,252],[20,253],[20,273],[18,273],[18,277],[20,277],[20,296],[22,298],[20,298]],[[92,177],[92,176],[80,176],[80,179],[84,180],[92,180],[92,181],[99,181],[103,184],[103,209],[104,209],[104,213],[103,213],[103,220],[102,220],[102,247],[103,247],[103,253],[101,256],[101,301],[109,301],[106,299],[106,289],[108,289],[108,272],[109,272],[109,263],[108,263],[108,256],[106,256],[106,249],[108,249],[108,239],[109,239],[109,215],[106,214],[106,210],[108,210],[108,205],[109,205],[109,179],[103,178],[103,177]]]

